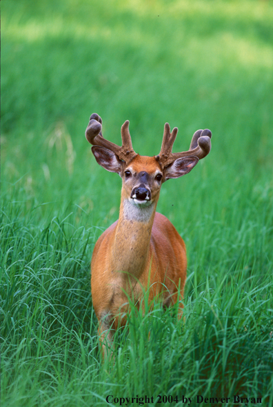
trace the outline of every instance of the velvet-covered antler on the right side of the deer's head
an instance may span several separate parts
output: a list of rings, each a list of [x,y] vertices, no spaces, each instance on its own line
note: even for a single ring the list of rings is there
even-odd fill
[[[176,139],[177,132],[177,127],[175,127],[174,130],[170,132],[169,123],[165,123],[161,150],[159,152],[159,155],[156,156],[156,160],[159,161],[161,166],[168,167],[176,159],[181,157],[194,156],[202,159],[206,155],[208,155],[211,148],[210,139],[212,137],[212,132],[210,130],[197,130],[192,137],[190,150],[182,152],[172,152],[172,146],[174,144],[174,140]]]

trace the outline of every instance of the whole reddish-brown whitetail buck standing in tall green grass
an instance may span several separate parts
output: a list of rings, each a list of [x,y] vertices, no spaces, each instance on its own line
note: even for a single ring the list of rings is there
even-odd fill
[[[128,297],[140,304],[143,289],[148,301],[161,295],[163,306],[183,298],[187,259],[185,244],[170,221],[156,212],[163,182],[188,174],[210,152],[210,130],[197,130],[190,150],[172,152],[178,128],[170,132],[165,123],[159,155],[144,157],[132,148],[129,121],[121,126],[122,146],[103,138],[101,117],[93,113],[86,139],[100,166],[122,178],[119,219],[99,238],[91,262],[94,311],[99,320],[99,338],[112,341],[118,326],[124,326]],[[179,292],[180,291],[180,292]],[[183,304],[179,302],[179,317]]]

